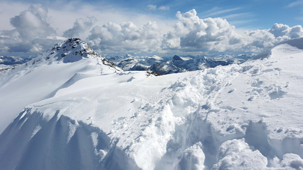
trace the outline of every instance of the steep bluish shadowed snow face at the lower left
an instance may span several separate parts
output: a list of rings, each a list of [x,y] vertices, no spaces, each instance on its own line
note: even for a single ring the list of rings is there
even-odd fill
[[[49,121],[29,111],[20,113],[0,135],[3,169],[138,169],[99,128],[58,118],[60,111]]]

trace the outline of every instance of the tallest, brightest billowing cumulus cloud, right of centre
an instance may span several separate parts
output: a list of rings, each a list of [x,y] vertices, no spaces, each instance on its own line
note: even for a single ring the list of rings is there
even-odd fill
[[[225,51],[242,42],[235,27],[221,18],[199,19],[195,10],[178,12],[176,16],[179,22],[174,25],[174,31],[164,35],[164,48]]]

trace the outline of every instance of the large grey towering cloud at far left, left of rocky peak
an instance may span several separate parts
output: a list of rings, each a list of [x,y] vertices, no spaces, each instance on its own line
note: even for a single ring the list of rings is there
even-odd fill
[[[47,39],[56,36],[56,31],[48,23],[47,13],[47,8],[41,4],[32,4],[28,10],[11,18],[10,23],[14,29],[0,31],[1,52],[36,53],[57,43],[58,40]]]

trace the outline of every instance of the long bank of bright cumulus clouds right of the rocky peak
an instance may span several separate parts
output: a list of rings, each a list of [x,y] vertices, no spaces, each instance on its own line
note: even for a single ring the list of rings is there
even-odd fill
[[[252,52],[266,50],[278,42],[303,37],[301,26],[275,24],[272,29],[238,33],[222,18],[200,19],[195,10],[176,14],[173,31],[160,34],[156,23],[141,27],[108,23],[90,31],[88,41],[99,52]]]

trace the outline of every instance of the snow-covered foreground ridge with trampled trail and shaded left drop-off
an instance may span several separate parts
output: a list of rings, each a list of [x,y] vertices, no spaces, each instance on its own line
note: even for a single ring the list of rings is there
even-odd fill
[[[256,57],[263,60],[199,71],[79,73],[0,135],[0,167],[301,169],[298,43]]]

